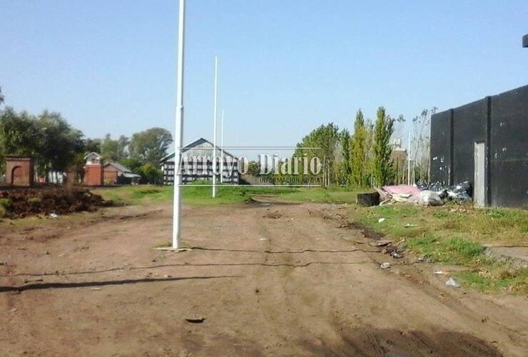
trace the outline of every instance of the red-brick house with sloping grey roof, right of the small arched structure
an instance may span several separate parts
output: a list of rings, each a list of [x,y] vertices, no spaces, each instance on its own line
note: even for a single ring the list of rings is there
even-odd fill
[[[116,162],[103,163],[103,158],[97,153],[90,153],[84,156],[86,166],[84,166],[83,183],[88,186],[103,185],[126,185],[137,184],[141,176],[134,174],[127,167]]]

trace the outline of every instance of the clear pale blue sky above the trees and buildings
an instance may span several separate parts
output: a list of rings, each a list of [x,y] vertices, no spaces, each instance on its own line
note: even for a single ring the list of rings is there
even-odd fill
[[[0,0],[6,104],[88,137],[173,131],[178,1]],[[377,106],[410,121],[528,84],[528,1],[187,0],[186,142],[295,145]],[[403,129],[402,131],[405,131]]]

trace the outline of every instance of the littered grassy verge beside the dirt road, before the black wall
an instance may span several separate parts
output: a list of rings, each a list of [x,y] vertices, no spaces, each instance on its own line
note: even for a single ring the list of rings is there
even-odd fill
[[[453,273],[465,286],[480,291],[515,291],[528,295],[528,268],[484,253],[484,244],[528,245],[528,211],[472,206],[417,207],[409,205],[354,207],[355,221],[405,239],[407,248],[432,261],[467,267]],[[379,218],[385,218],[379,222]]]

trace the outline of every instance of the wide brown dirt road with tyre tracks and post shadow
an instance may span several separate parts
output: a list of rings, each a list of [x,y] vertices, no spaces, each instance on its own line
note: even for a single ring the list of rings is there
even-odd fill
[[[340,212],[186,207],[184,253],[153,249],[169,206],[0,223],[0,355],[527,355],[526,298],[449,288]]]

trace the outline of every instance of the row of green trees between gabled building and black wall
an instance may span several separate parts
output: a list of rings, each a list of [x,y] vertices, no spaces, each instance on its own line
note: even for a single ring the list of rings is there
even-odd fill
[[[430,114],[430,111],[422,112],[422,116],[412,120],[413,126],[422,128]],[[352,135],[348,129],[339,129],[333,123],[321,125],[297,144],[298,149],[293,156],[308,156],[310,159],[317,156],[323,165],[324,186],[382,186],[401,183],[407,180],[407,159],[394,160],[394,143],[391,138],[397,124],[403,122],[405,119],[402,116],[392,118],[382,106],[377,109],[373,123],[370,119],[365,119],[362,111],[358,110]],[[420,134],[424,133],[424,130],[420,131]],[[420,136],[420,149],[425,150],[424,138],[425,134]],[[418,136],[415,136],[413,144],[417,140]],[[420,177],[423,177],[426,168],[420,165],[417,169]]]

